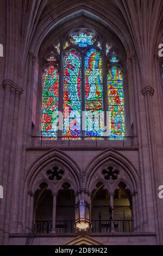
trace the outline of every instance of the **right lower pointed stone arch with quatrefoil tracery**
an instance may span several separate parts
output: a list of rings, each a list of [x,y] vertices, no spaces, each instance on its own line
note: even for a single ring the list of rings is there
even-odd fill
[[[103,178],[101,174],[102,169],[106,166],[113,166],[120,170],[118,179],[112,182],[112,185]],[[92,163],[85,169],[85,188],[92,191],[98,181],[103,182],[108,190],[114,192],[118,184],[123,181],[127,185],[130,192],[137,191],[137,184],[139,184],[139,174],[131,162],[118,153],[114,149],[105,150],[102,154],[97,156]]]

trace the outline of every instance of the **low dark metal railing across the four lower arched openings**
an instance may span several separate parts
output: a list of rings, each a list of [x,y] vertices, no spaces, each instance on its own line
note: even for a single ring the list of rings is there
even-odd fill
[[[74,233],[74,221],[57,221],[55,228],[57,233]],[[112,227],[115,232],[132,232],[133,220],[115,220]],[[52,221],[35,221],[35,233],[51,233]],[[92,233],[110,233],[111,223],[109,220],[92,221]]]

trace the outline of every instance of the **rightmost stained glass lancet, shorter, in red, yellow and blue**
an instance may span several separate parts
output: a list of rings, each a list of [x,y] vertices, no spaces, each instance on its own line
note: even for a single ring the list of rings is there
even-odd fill
[[[112,67],[108,73],[108,103],[110,139],[124,139],[126,131],[123,77],[121,70],[116,66]]]

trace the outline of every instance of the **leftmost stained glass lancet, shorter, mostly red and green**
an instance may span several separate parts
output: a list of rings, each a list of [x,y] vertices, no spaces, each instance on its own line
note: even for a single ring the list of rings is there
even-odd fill
[[[58,88],[59,74],[53,66],[49,66],[43,73],[42,88],[42,139],[57,139],[58,131]]]

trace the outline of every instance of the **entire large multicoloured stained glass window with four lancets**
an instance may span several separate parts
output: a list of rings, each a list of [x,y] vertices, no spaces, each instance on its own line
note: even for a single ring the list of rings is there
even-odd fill
[[[43,72],[42,139],[125,139],[123,77],[113,49],[103,37],[83,29],[49,47],[49,66]]]

